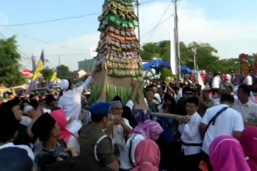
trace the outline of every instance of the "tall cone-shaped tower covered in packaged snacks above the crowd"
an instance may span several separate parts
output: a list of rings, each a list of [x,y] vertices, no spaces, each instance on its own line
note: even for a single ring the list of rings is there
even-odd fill
[[[101,31],[96,51],[96,76],[91,102],[111,102],[119,95],[126,103],[132,94],[132,83],[143,81],[138,39],[134,29],[138,18],[133,0],[106,0],[99,16]],[[146,110],[143,87],[138,88],[135,109]]]

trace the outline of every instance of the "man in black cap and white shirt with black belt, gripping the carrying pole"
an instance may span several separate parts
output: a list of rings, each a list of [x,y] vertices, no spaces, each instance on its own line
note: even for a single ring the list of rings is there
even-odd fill
[[[183,123],[178,125],[182,141],[183,170],[197,171],[201,160],[202,139],[199,132],[201,116],[197,113],[198,105],[198,98],[188,98],[186,100],[186,113],[190,120],[183,120]]]

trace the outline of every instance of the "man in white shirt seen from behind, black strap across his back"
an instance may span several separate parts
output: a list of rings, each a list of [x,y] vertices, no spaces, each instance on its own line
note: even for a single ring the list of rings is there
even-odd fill
[[[240,139],[241,137],[241,132],[243,130],[243,119],[240,113],[231,108],[233,103],[233,95],[223,94],[221,95],[221,105],[208,108],[205,115],[203,115],[200,125],[200,132],[203,138],[202,150],[204,160],[207,162],[210,170],[211,163],[209,162],[208,158],[208,149],[211,142],[221,135],[232,135],[237,139]],[[217,113],[220,114],[218,115]],[[211,122],[211,120],[213,120],[213,122]]]

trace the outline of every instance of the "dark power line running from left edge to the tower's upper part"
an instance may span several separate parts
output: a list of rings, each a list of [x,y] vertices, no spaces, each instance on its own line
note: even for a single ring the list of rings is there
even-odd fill
[[[51,22],[56,22],[56,21],[64,21],[64,20],[70,20],[70,19],[79,19],[82,17],[86,16],[95,16],[101,13],[91,13],[91,14],[85,14],[81,16],[71,16],[71,17],[66,17],[66,18],[61,18],[61,19],[49,19],[45,21],[35,21],[35,22],[30,22],[30,23],[23,23],[23,24],[6,24],[6,25],[0,25],[0,26],[27,26],[27,25],[34,25],[34,24],[45,24],[45,23],[51,23]]]

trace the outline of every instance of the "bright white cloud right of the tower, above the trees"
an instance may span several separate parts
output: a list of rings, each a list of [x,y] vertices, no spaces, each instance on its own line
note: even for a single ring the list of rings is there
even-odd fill
[[[141,9],[142,32],[145,32],[146,28],[155,26],[166,6],[168,3],[163,2]],[[170,11],[173,12],[173,9]],[[239,53],[256,52],[257,24],[253,22],[226,19],[226,16],[223,19],[207,19],[204,9],[193,7],[186,1],[181,1],[178,6],[178,20],[180,41],[211,43],[221,58],[237,58]],[[149,41],[168,39],[171,28],[173,28],[173,19],[159,26]]]

